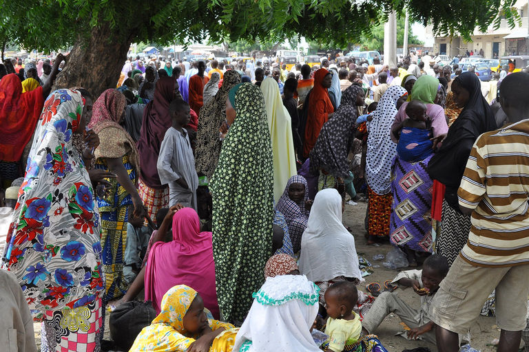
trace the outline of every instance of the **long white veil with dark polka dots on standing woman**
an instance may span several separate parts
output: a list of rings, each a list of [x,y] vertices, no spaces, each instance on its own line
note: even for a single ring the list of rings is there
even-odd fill
[[[397,144],[391,140],[391,126],[398,112],[397,100],[404,94],[403,87],[389,87],[378,102],[373,120],[367,122],[367,184],[377,195],[391,192],[391,164],[397,155]]]

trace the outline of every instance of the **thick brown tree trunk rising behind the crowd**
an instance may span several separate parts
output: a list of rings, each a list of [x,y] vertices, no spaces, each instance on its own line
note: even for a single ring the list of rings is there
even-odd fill
[[[105,89],[116,88],[133,35],[115,39],[110,26],[92,28],[90,39],[77,39],[53,89],[83,87],[94,100]]]

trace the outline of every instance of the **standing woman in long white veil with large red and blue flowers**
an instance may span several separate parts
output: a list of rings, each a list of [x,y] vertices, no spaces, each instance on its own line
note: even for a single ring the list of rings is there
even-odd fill
[[[70,89],[45,102],[3,256],[33,318],[43,322],[45,352],[99,351],[103,334],[100,220],[72,142],[73,133],[85,130],[83,104]]]

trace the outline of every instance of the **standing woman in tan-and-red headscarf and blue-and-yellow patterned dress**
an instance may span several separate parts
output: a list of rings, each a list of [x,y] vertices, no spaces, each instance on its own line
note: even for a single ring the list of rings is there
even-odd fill
[[[123,257],[127,239],[127,208],[134,204],[134,217],[144,214],[143,203],[136,190],[140,162],[132,137],[123,129],[125,96],[116,89],[107,89],[94,102],[88,127],[98,134],[100,144],[94,153],[96,168],[114,173],[109,178],[106,195],[98,195],[101,212],[101,243],[105,272],[105,303],[125,294]]]

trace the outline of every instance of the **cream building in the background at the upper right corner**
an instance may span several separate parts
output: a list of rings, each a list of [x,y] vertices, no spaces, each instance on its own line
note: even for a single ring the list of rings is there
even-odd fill
[[[468,42],[461,36],[435,36],[433,52],[452,57],[465,55],[467,51],[479,54],[482,50],[485,58],[529,54],[528,1],[517,1],[515,8],[521,17],[520,26],[511,29],[506,19],[501,19],[499,28],[494,29],[493,25],[490,25],[486,32],[476,30],[471,36],[472,41]],[[427,28],[428,30],[431,28]]]

